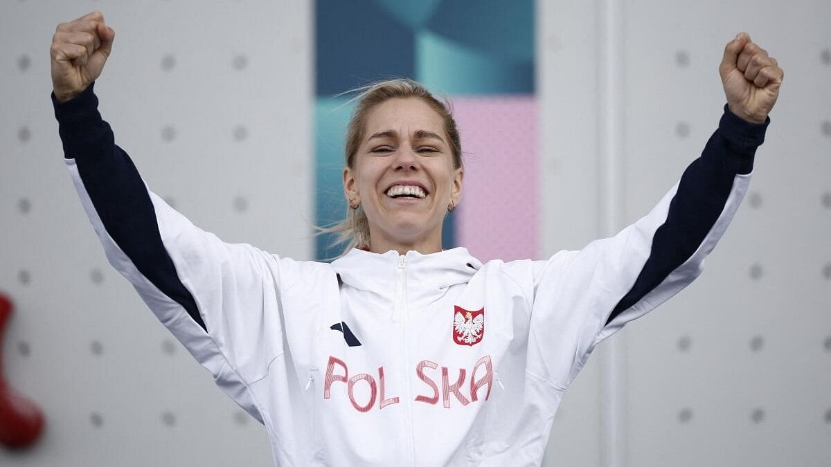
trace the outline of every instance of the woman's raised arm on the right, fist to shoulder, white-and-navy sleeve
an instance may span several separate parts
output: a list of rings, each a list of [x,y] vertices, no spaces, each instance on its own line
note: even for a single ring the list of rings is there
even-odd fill
[[[597,343],[695,280],[739,208],[783,72],[745,33],[725,46],[719,71],[727,104],[718,129],[649,214],[535,263],[531,338],[540,343],[529,348],[543,350],[529,355],[529,371],[555,386],[571,384]]]

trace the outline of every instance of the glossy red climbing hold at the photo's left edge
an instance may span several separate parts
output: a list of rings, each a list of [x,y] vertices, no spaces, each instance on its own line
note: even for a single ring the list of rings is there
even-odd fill
[[[34,402],[14,391],[3,376],[2,336],[11,316],[12,302],[0,293],[0,445],[21,449],[40,437],[43,413]]]

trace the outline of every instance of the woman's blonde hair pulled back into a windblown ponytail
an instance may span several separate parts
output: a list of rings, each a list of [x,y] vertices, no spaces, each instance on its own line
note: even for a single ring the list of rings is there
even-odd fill
[[[437,100],[430,94],[430,91],[427,91],[424,85],[409,78],[377,81],[351,91],[346,91],[338,96],[352,92],[358,92],[358,94],[347,101],[347,104],[357,101],[357,105],[352,111],[352,118],[349,120],[347,139],[344,145],[347,167],[354,169],[355,156],[358,148],[361,146],[361,140],[364,137],[364,127],[366,126],[366,117],[370,111],[376,108],[376,106],[380,106],[382,103],[396,98],[420,99],[441,116],[447,140],[450,142],[450,150],[453,153],[453,167],[455,169],[462,167],[462,148],[459,130],[456,128],[456,122],[453,119],[453,106],[450,104],[450,101],[445,98],[442,101]],[[336,239],[332,242],[332,246],[345,243],[346,246],[341,252],[341,255],[348,253],[352,248],[369,248],[370,245],[369,220],[366,219],[366,213],[360,206],[357,209],[352,209],[348,201],[346,219],[331,227],[317,227],[316,229],[318,230],[318,234],[337,234]]]

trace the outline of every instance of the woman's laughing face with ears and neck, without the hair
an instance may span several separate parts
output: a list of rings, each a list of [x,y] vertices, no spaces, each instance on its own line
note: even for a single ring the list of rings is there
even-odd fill
[[[450,202],[459,204],[464,174],[453,167],[438,113],[418,98],[376,106],[353,165],[343,171],[344,192],[363,206],[372,243],[438,242],[441,249],[441,223]]]

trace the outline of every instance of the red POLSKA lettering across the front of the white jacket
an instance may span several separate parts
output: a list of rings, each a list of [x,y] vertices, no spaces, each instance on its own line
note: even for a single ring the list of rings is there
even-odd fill
[[[484,371],[479,371],[479,373],[483,374],[479,377],[479,379],[476,379],[476,373],[479,370],[479,366],[484,366]],[[429,360],[422,360],[418,363],[418,365],[416,365],[416,376],[418,376],[421,381],[429,386],[430,391],[432,391],[432,395],[429,396],[416,396],[416,402],[424,402],[426,404],[435,405],[439,402],[439,396],[441,396],[442,406],[444,406],[445,409],[450,409],[450,395],[452,394],[455,396],[456,401],[459,401],[462,406],[467,406],[470,402],[479,401],[479,389],[485,385],[488,386],[488,391],[484,393],[484,400],[488,400],[490,396],[490,386],[493,385],[494,382],[494,366],[489,355],[483,356],[482,358],[479,358],[479,361],[476,361],[476,364],[473,366],[473,370],[470,371],[470,385],[465,385],[465,376],[467,374],[465,368],[459,369],[459,376],[455,379],[453,384],[450,384],[450,371],[448,371],[447,366],[442,366],[441,394],[439,394],[439,386],[436,386],[435,381],[433,381],[433,379],[430,378],[430,376],[425,372],[425,368],[436,370],[438,367],[439,365],[437,363]],[[368,373],[358,373],[357,375],[349,377],[349,368],[347,368],[347,364],[337,357],[329,356],[329,362],[326,366],[326,379],[323,381],[323,399],[330,398],[332,384],[335,381],[347,384],[346,390],[349,395],[349,401],[352,402],[352,406],[355,407],[355,410],[359,412],[368,412],[372,410],[372,407],[376,406],[376,401],[378,402],[378,410],[399,402],[398,397],[386,397],[386,392],[384,391],[383,366],[378,367],[378,380],[376,382],[375,377]],[[355,400],[355,386],[360,381],[365,381],[361,384],[369,386],[369,401],[366,401],[365,404],[361,404]],[[465,396],[465,392],[467,392],[469,397]]]

